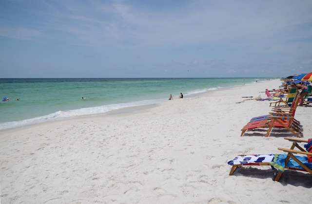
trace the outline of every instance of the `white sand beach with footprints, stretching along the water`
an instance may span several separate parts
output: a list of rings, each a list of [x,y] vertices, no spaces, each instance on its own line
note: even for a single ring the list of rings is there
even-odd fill
[[[121,114],[80,117],[0,132],[1,204],[310,204],[312,175],[270,167],[229,176],[238,154],[283,153],[282,129],[246,132],[270,101],[242,96],[276,89],[279,79]],[[183,91],[183,90],[182,90]],[[262,93],[260,93],[262,92]],[[122,111],[121,111],[122,112]],[[298,107],[303,138],[312,138],[312,105]]]

